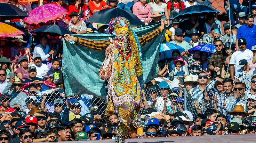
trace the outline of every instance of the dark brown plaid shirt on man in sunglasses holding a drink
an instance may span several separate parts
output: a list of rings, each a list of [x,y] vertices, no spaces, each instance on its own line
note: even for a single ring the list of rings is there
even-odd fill
[[[213,70],[214,67],[219,67],[220,68],[220,72],[221,72],[222,67],[223,67],[223,63],[224,63],[223,52],[222,51],[220,53],[219,52],[215,52],[211,56],[211,60],[209,62],[209,68],[210,68],[210,70]],[[217,72],[213,71],[213,73],[214,73],[213,77],[217,77]]]

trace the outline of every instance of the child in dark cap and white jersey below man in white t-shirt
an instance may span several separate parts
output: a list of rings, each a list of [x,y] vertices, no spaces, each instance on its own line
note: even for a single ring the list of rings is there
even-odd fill
[[[235,75],[236,82],[243,81],[244,77],[246,76],[247,64],[248,64],[248,62],[245,59],[242,59],[239,61],[239,65],[237,65],[237,67],[240,69],[238,69],[236,71],[236,75]]]

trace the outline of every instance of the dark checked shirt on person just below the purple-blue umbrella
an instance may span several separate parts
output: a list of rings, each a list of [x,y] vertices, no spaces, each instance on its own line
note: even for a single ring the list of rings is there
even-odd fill
[[[198,64],[196,61],[199,61],[201,63],[201,60],[198,58],[196,59],[194,56],[190,56],[188,58],[188,73],[192,75],[198,75],[200,71],[203,71],[200,64]]]

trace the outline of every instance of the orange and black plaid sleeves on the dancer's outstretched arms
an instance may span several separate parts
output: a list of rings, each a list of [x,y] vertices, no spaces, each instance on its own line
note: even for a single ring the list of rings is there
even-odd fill
[[[156,28],[155,30],[148,32],[145,35],[142,35],[141,37],[138,37],[140,40],[140,45],[144,46],[146,43],[151,41],[153,38],[156,37],[160,32],[162,32],[161,28]],[[109,40],[101,40],[101,41],[94,41],[91,39],[82,39],[82,38],[77,38],[75,40],[76,43],[81,44],[83,46],[87,46],[91,49],[95,50],[101,50],[101,49],[106,49],[108,45],[110,44]]]

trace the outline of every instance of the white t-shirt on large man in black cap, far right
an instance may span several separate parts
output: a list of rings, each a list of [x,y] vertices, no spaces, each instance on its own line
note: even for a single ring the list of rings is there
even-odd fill
[[[240,69],[237,67],[237,65],[239,65],[239,61],[243,59],[245,59],[247,62],[253,59],[252,51],[249,49],[246,49],[244,51],[238,50],[232,54],[230,58],[230,64],[235,64],[235,73],[237,72],[237,70]]]

